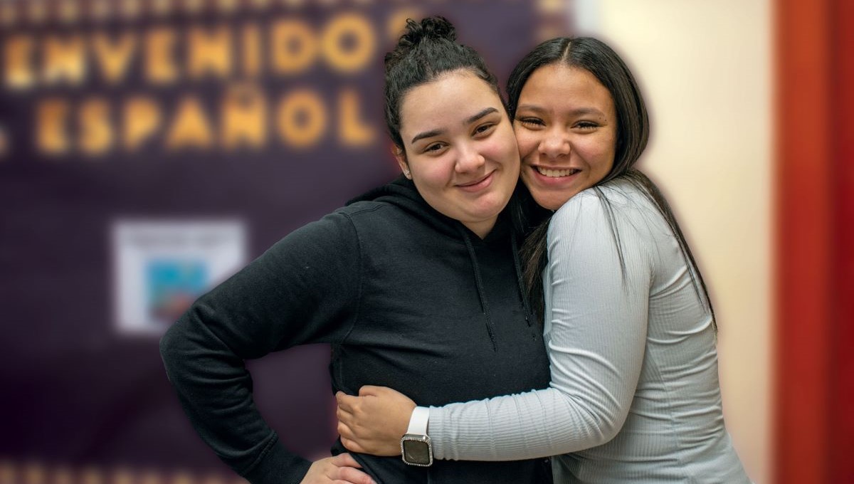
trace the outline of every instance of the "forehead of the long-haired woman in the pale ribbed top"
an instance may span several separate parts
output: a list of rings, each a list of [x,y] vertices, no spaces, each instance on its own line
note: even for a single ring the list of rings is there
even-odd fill
[[[526,102],[541,107],[588,105],[603,111],[613,109],[611,92],[596,76],[587,69],[563,64],[549,64],[531,73],[519,94],[519,106]]]

